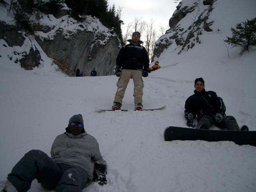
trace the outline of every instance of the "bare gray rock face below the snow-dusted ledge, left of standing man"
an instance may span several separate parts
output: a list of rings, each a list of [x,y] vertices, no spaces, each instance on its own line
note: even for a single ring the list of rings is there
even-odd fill
[[[101,35],[105,40],[106,36]],[[120,43],[114,36],[110,36],[108,42],[103,45],[99,39],[100,34],[94,36],[93,32],[85,30],[78,32],[73,38],[64,38],[62,31],[59,31],[53,40],[42,41],[36,36],[36,41],[44,52],[56,60],[56,64],[66,74],[71,75],[72,70],[79,68],[86,76],[90,76],[90,72],[95,68],[99,76],[112,75]]]

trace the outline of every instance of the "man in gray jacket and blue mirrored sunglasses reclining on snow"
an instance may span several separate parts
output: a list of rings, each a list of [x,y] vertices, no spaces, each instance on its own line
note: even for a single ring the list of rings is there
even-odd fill
[[[72,116],[66,132],[55,138],[51,156],[40,150],[26,153],[8,174],[1,192],[26,192],[35,178],[56,192],[82,192],[92,180],[107,183],[106,161],[97,140],[84,130],[81,114]]]

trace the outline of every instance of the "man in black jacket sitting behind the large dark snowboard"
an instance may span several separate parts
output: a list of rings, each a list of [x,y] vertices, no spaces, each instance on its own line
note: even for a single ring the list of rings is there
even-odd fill
[[[216,92],[204,89],[202,77],[196,78],[194,83],[194,95],[190,96],[185,103],[185,118],[187,126],[198,129],[209,129],[212,124],[224,130],[240,130],[233,116],[226,116],[226,107],[222,98]],[[196,118],[198,124],[194,124]],[[247,126],[242,126],[241,130],[248,130]]]

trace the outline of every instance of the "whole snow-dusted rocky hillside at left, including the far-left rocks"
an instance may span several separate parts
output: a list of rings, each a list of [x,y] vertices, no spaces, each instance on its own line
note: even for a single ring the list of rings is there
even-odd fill
[[[6,42],[3,46],[22,47],[22,52],[13,48],[5,57],[26,70],[32,70],[44,66],[41,54],[45,53],[70,76],[77,68],[86,76],[90,76],[93,68],[97,76],[114,74],[120,40],[98,18],[81,16],[79,21],[75,20],[67,15],[68,8],[64,3],[59,4],[58,9],[54,8],[54,13],[48,4],[35,9],[26,0],[19,0],[19,3],[30,14],[30,26],[35,32],[28,36],[17,26],[0,21],[0,38]]]

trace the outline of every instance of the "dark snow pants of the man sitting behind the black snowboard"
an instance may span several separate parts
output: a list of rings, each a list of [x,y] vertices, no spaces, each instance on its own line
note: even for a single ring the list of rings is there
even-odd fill
[[[213,123],[214,125],[223,130],[240,130],[236,122],[236,119],[233,116],[225,116],[224,118],[222,118],[220,122],[214,122],[214,118],[212,116],[206,115],[199,120],[198,124],[196,125],[196,128],[209,129]]]

